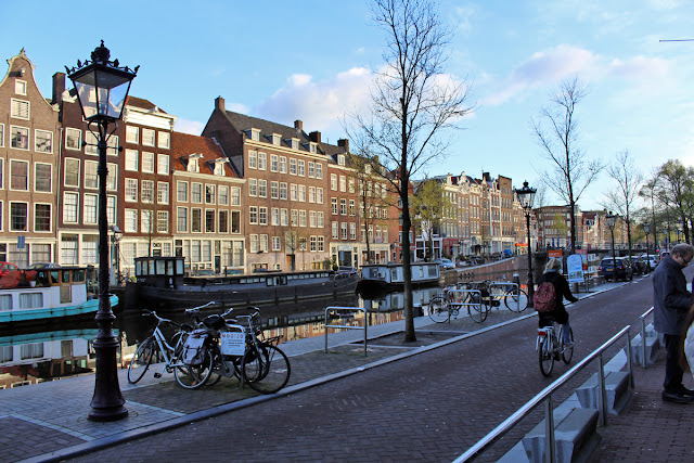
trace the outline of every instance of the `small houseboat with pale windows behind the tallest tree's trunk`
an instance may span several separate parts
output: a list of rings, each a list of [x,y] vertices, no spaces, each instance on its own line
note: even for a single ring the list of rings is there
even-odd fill
[[[412,285],[424,286],[438,284],[441,276],[439,265],[436,262],[413,262],[410,263],[412,270]],[[402,263],[375,263],[361,268],[360,288],[365,291],[372,288],[380,290],[401,290],[404,285],[404,273]]]

